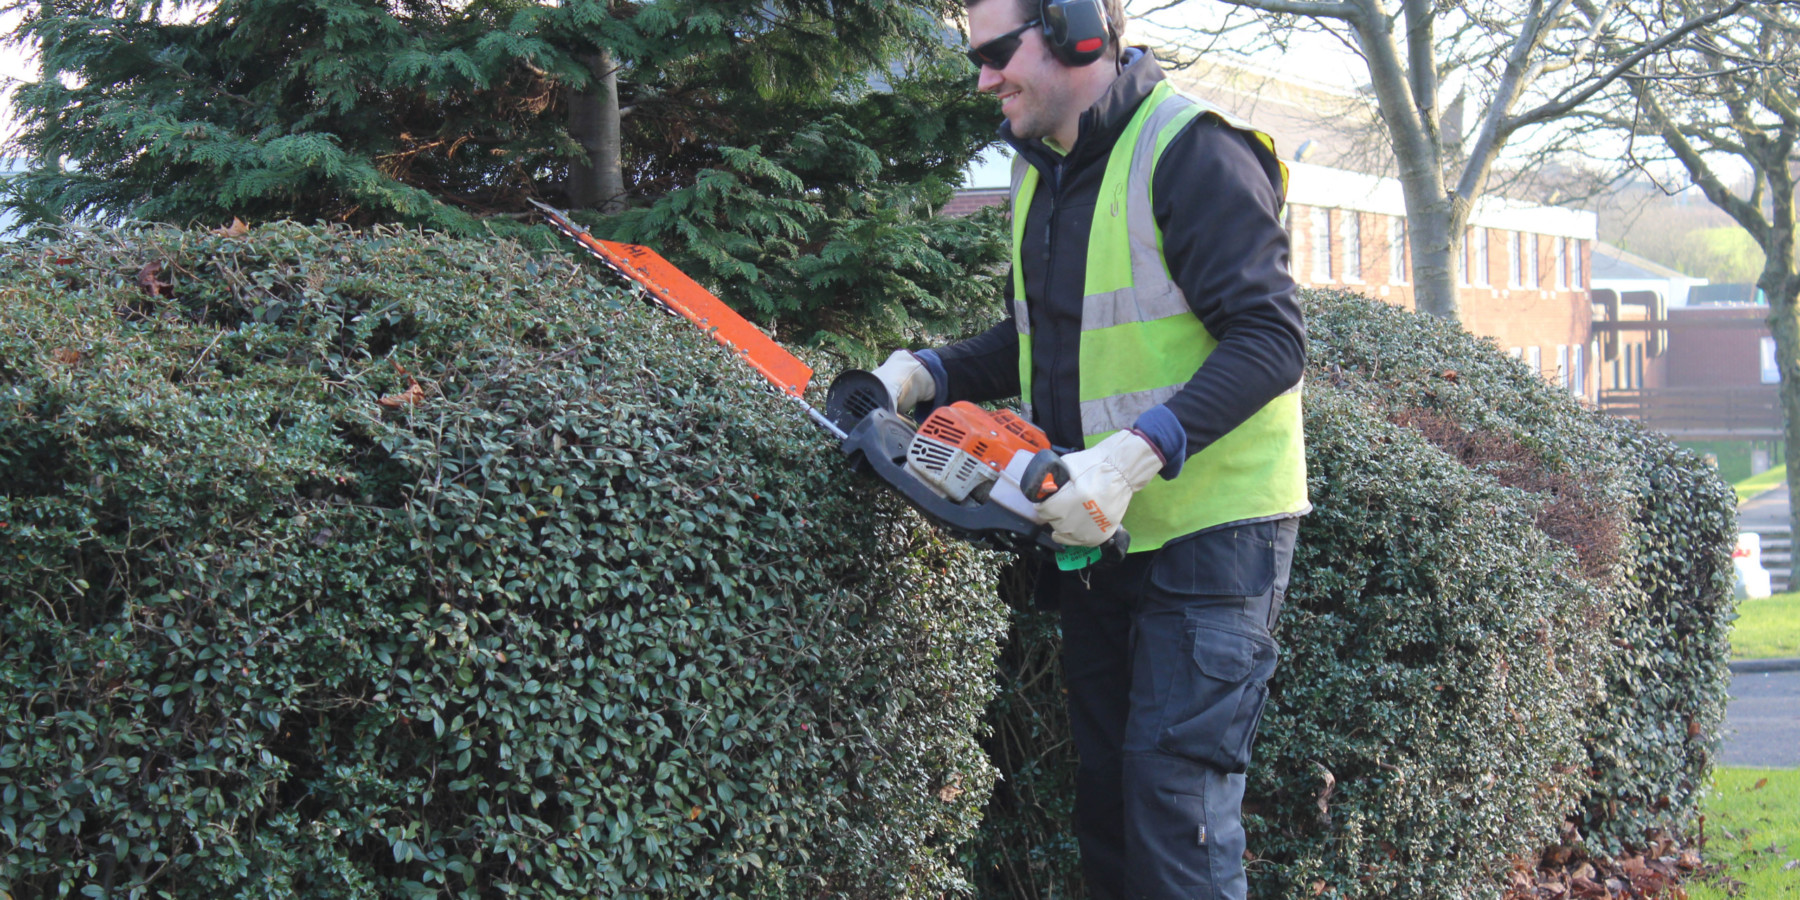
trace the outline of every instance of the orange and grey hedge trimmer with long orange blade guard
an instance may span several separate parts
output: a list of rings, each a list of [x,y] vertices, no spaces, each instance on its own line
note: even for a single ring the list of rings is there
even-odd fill
[[[1037,504],[1067,484],[1069,470],[1040,428],[1001,410],[952,403],[916,423],[898,410],[873,374],[851,369],[832,380],[824,412],[806,401],[812,367],[720,302],[711,292],[648,247],[603,241],[569,216],[531,202],[558,230],[644,295],[688,319],[761,373],[806,418],[837,437],[859,470],[873,472],[938,527],[958,538],[1013,553],[1048,551],[1062,569],[1118,562],[1130,536],[1118,529],[1100,547],[1064,547],[1037,520]]]

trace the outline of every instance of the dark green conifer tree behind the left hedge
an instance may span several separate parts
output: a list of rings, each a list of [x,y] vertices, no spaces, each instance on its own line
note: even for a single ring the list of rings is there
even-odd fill
[[[517,234],[538,198],[859,358],[999,306],[992,216],[934,216],[997,122],[950,0],[11,9],[38,221]]]

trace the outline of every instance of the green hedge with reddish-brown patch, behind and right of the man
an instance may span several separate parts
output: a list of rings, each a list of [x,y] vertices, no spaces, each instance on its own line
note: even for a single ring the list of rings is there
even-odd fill
[[[1730,680],[1730,488],[1454,326],[1336,292],[1307,315],[1314,513],[1249,774],[1255,896],[1498,896],[1546,846],[1687,828]],[[967,853],[990,896],[1084,893],[1055,644],[1055,614],[1013,614]]]

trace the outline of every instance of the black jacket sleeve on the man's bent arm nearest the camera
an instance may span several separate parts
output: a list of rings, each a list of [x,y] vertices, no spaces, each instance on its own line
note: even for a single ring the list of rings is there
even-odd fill
[[[1219,347],[1165,405],[1139,419],[1174,477],[1292,389],[1307,365],[1307,326],[1289,274],[1278,162],[1253,139],[1202,117],[1165,149],[1152,182],[1163,257],[1193,315]],[[1170,416],[1174,421],[1170,421]],[[1179,428],[1177,428],[1179,425]]]

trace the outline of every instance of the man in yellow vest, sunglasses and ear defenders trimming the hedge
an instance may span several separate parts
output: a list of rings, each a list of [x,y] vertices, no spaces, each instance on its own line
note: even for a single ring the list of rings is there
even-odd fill
[[[1111,569],[1049,572],[1094,896],[1242,898],[1269,632],[1310,506],[1305,324],[1273,142],[1121,49],[1120,0],[968,0],[1013,171],[1010,320],[877,376],[896,405],[1021,396],[1071,481],[1039,506]]]

